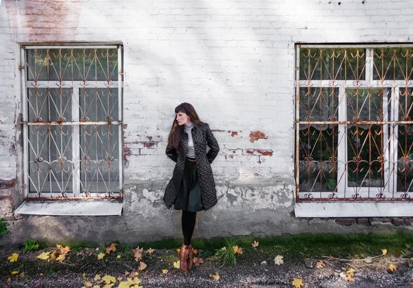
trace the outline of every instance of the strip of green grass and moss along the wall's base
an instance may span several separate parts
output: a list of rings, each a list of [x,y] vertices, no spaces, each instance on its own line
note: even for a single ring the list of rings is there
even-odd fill
[[[413,250],[413,233],[400,232],[391,234],[286,234],[277,237],[258,238],[253,236],[234,236],[237,245],[244,252],[253,250],[251,243],[258,241],[256,248],[261,252],[287,254],[290,258],[317,258],[335,256],[337,258],[365,258],[381,254],[387,249],[389,255],[401,256]],[[182,245],[182,239],[163,239],[140,243],[145,249],[176,249]],[[226,239],[193,239],[195,249],[204,250],[204,256],[213,255],[226,247]]]

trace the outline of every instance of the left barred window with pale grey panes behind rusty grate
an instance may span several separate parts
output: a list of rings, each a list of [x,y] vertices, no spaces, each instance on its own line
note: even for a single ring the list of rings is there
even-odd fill
[[[122,197],[122,47],[21,52],[26,197]]]

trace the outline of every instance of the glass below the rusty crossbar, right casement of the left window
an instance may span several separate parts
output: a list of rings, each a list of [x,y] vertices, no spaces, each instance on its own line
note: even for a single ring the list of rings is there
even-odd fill
[[[81,192],[119,192],[118,125],[81,126]]]

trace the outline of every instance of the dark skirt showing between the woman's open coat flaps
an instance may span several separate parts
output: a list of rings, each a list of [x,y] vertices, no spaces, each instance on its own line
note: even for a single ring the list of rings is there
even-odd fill
[[[176,210],[189,212],[204,210],[196,162],[191,162],[188,159],[185,161],[184,177],[182,177],[182,183],[173,207]]]

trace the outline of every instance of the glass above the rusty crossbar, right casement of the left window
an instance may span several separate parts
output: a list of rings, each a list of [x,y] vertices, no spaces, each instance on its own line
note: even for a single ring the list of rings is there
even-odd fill
[[[118,121],[118,89],[81,89],[81,121]]]

